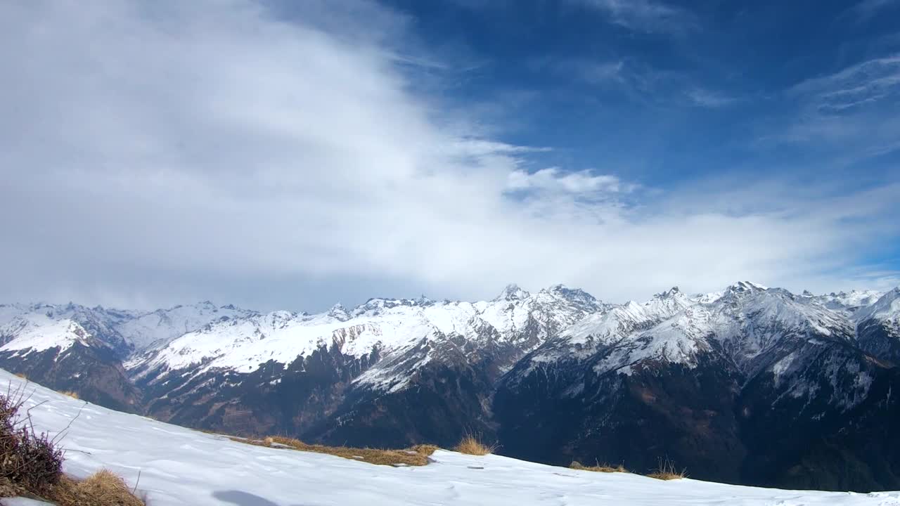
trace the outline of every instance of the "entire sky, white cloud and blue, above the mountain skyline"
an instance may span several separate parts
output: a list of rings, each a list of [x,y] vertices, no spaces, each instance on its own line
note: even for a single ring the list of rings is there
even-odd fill
[[[0,302],[900,284],[900,1],[0,3]]]

